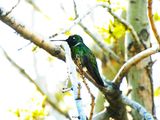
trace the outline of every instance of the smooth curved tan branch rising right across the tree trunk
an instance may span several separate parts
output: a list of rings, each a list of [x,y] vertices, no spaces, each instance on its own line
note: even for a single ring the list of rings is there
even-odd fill
[[[149,57],[152,54],[157,53],[160,50],[159,47],[154,46],[151,48],[148,48],[138,54],[136,54],[134,57],[130,58],[125,64],[123,64],[123,66],[120,68],[120,70],[118,71],[117,75],[115,76],[115,78],[113,79],[113,82],[117,85],[120,85],[120,83],[122,82],[122,78],[127,74],[127,72],[129,71],[129,69],[137,64],[139,61],[143,60],[146,57]]]

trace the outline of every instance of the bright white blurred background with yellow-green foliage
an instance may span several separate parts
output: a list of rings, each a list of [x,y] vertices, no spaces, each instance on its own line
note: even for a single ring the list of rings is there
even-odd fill
[[[73,0],[20,0],[11,15],[45,40],[49,40],[49,36],[69,28],[75,17],[83,16],[89,8],[97,3],[107,3],[116,15],[123,19],[126,18],[127,0],[75,1],[76,7]],[[17,0],[0,0],[0,7],[10,10],[16,2]],[[157,11],[157,9],[158,7],[154,7],[154,11],[156,11],[154,12],[154,20],[159,25],[160,10]],[[0,52],[0,119],[65,120],[76,116],[72,94],[70,92],[62,93],[65,81],[68,79],[66,64],[24,40],[2,22],[0,22],[0,28],[0,46],[35,81],[33,84],[28,80],[23,73],[18,71],[17,67],[7,60],[4,53]],[[65,39],[71,34],[81,35],[86,45],[98,58],[102,76],[112,80],[123,63],[118,63],[109,53],[105,53],[93,38],[103,41],[119,56],[120,61],[124,61],[126,32],[125,26],[114,19],[106,9],[97,7],[81,20],[81,24],[74,25],[72,29],[65,31],[65,34],[59,34],[53,39]],[[61,43],[53,44],[60,45]],[[155,57],[157,58],[157,56]],[[154,82],[155,96],[157,98],[160,97],[160,79],[157,77],[157,67],[160,67],[159,61],[157,60],[153,66],[155,69],[153,77],[156,81]],[[107,103],[101,93],[92,84],[89,82],[88,84],[96,97],[95,113],[98,113]],[[125,83],[123,84],[122,89],[126,92],[128,87]],[[36,86],[39,86],[43,92],[39,92]],[[86,113],[89,114],[91,99],[88,97],[89,94],[84,85],[82,88],[83,104]],[[160,107],[157,107],[157,110],[160,110]]]

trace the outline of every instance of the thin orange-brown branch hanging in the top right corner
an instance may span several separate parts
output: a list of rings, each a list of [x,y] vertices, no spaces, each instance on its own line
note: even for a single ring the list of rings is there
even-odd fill
[[[160,45],[160,36],[158,34],[158,31],[157,31],[156,26],[153,21],[152,0],[148,0],[148,17],[149,17],[150,25],[151,25],[152,31],[154,33],[154,36],[156,37],[156,40],[157,40],[158,44]]]

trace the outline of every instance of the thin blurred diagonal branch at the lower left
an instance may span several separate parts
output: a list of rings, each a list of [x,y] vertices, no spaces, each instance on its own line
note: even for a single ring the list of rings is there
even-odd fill
[[[16,68],[20,71],[20,73],[25,77],[27,78],[31,83],[33,83],[37,89],[37,91],[39,91],[43,96],[47,96],[45,94],[45,92],[41,89],[41,87],[35,82],[35,80],[32,79],[32,77],[27,73],[25,72],[25,70],[20,67],[8,54],[7,52],[1,47],[3,53],[4,53],[4,56],[7,58],[7,60]],[[49,96],[47,96],[46,98],[46,101],[55,109],[57,110],[60,114],[64,115],[65,117],[69,118],[69,115],[68,113],[62,111],[57,105],[56,103],[54,103],[50,98]]]

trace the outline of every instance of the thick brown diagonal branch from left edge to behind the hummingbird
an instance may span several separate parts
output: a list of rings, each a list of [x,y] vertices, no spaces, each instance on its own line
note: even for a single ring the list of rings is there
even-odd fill
[[[19,33],[23,38],[33,42],[40,48],[43,48],[45,51],[51,55],[65,61],[64,51],[60,46],[52,45],[49,42],[44,41],[42,38],[25,28],[23,25],[18,23],[13,17],[6,15],[7,12],[3,11],[0,8],[0,20],[13,28],[17,33]]]

